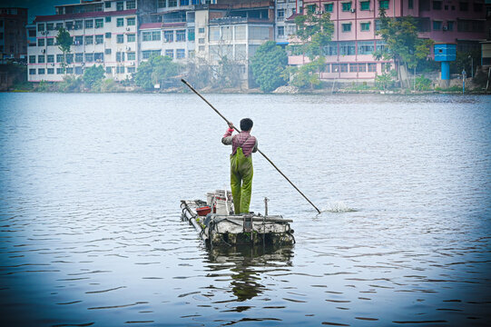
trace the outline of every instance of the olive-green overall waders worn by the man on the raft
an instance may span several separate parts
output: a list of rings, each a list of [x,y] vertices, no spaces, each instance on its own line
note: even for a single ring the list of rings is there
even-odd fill
[[[252,156],[246,157],[242,148],[237,148],[231,155],[231,195],[235,214],[249,213],[253,174]]]

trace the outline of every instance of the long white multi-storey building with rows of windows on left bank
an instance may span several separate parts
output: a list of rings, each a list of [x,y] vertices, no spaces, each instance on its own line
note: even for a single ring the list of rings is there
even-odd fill
[[[138,63],[135,0],[81,0],[80,4],[55,8],[56,15],[36,16],[34,20],[37,44],[28,47],[30,82],[59,82],[64,74],[83,74],[83,67],[93,64],[102,64],[107,76],[119,80],[135,72]],[[74,38],[71,52],[65,58],[56,45],[61,27]]]

